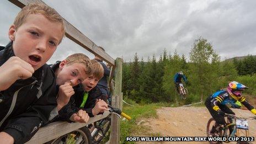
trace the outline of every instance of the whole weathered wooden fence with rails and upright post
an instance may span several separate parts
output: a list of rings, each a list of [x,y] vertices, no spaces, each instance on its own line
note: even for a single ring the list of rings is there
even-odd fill
[[[39,2],[44,3],[40,0],[8,0],[9,2],[15,4],[19,8],[23,8],[29,3]],[[45,3],[44,3],[45,4]],[[111,72],[109,76],[109,84],[113,78],[115,72],[115,89],[111,92],[112,105],[116,108],[121,109],[122,102],[122,59],[110,57],[106,52],[102,51],[94,42],[87,38],[86,35],[82,34],[78,29],[76,29],[72,24],[68,23],[67,20],[63,19],[66,28],[66,37],[76,44],[82,46],[84,49],[92,52],[92,54],[97,54],[102,57],[104,61],[111,65]],[[109,85],[110,86],[110,85]],[[53,122],[45,127],[41,127],[38,132],[31,138],[27,143],[45,143],[47,141],[53,140],[62,135],[68,134],[69,132],[79,129],[85,125],[92,124],[95,121],[105,118],[109,115],[109,111],[105,111],[103,115],[94,116],[90,118],[87,124],[80,124],[78,122],[68,123],[68,122]],[[119,143],[120,141],[120,121],[118,116],[111,115],[111,132],[110,132],[110,143]]]

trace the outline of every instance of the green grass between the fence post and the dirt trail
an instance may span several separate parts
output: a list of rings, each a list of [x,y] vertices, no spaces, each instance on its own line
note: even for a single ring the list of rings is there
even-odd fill
[[[126,142],[125,137],[127,136],[160,136],[159,133],[149,133],[150,127],[137,125],[142,118],[157,118],[156,109],[161,108],[162,106],[171,106],[169,103],[154,103],[154,104],[145,104],[135,106],[127,106],[124,104],[122,111],[127,115],[131,116],[130,121],[121,121],[121,133],[120,133],[120,143],[135,143],[135,142]]]

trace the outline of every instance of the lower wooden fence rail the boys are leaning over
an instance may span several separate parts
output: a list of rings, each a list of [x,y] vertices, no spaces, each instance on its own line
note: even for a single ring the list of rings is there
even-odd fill
[[[87,124],[82,124],[78,122],[68,123],[66,121],[52,122],[49,125],[40,127],[39,131],[31,138],[30,141],[26,143],[45,143],[54,140],[57,137],[68,134],[73,130],[77,130],[88,124],[92,124],[95,121],[106,118],[109,115],[109,111],[105,111],[103,115],[96,115],[89,119]]]

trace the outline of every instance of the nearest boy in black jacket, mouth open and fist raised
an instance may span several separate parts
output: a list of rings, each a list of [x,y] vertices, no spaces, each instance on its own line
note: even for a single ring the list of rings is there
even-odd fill
[[[56,108],[56,81],[45,63],[65,34],[61,16],[44,4],[24,7],[0,51],[0,143],[24,143]]]

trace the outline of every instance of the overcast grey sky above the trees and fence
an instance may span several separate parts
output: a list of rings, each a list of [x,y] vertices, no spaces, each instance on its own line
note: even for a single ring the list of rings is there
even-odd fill
[[[256,55],[256,1],[252,0],[43,0],[113,58],[145,60],[167,49],[189,56],[199,36],[212,42],[222,60]],[[0,2],[0,45],[19,8]],[[65,38],[48,63],[90,52]]]

